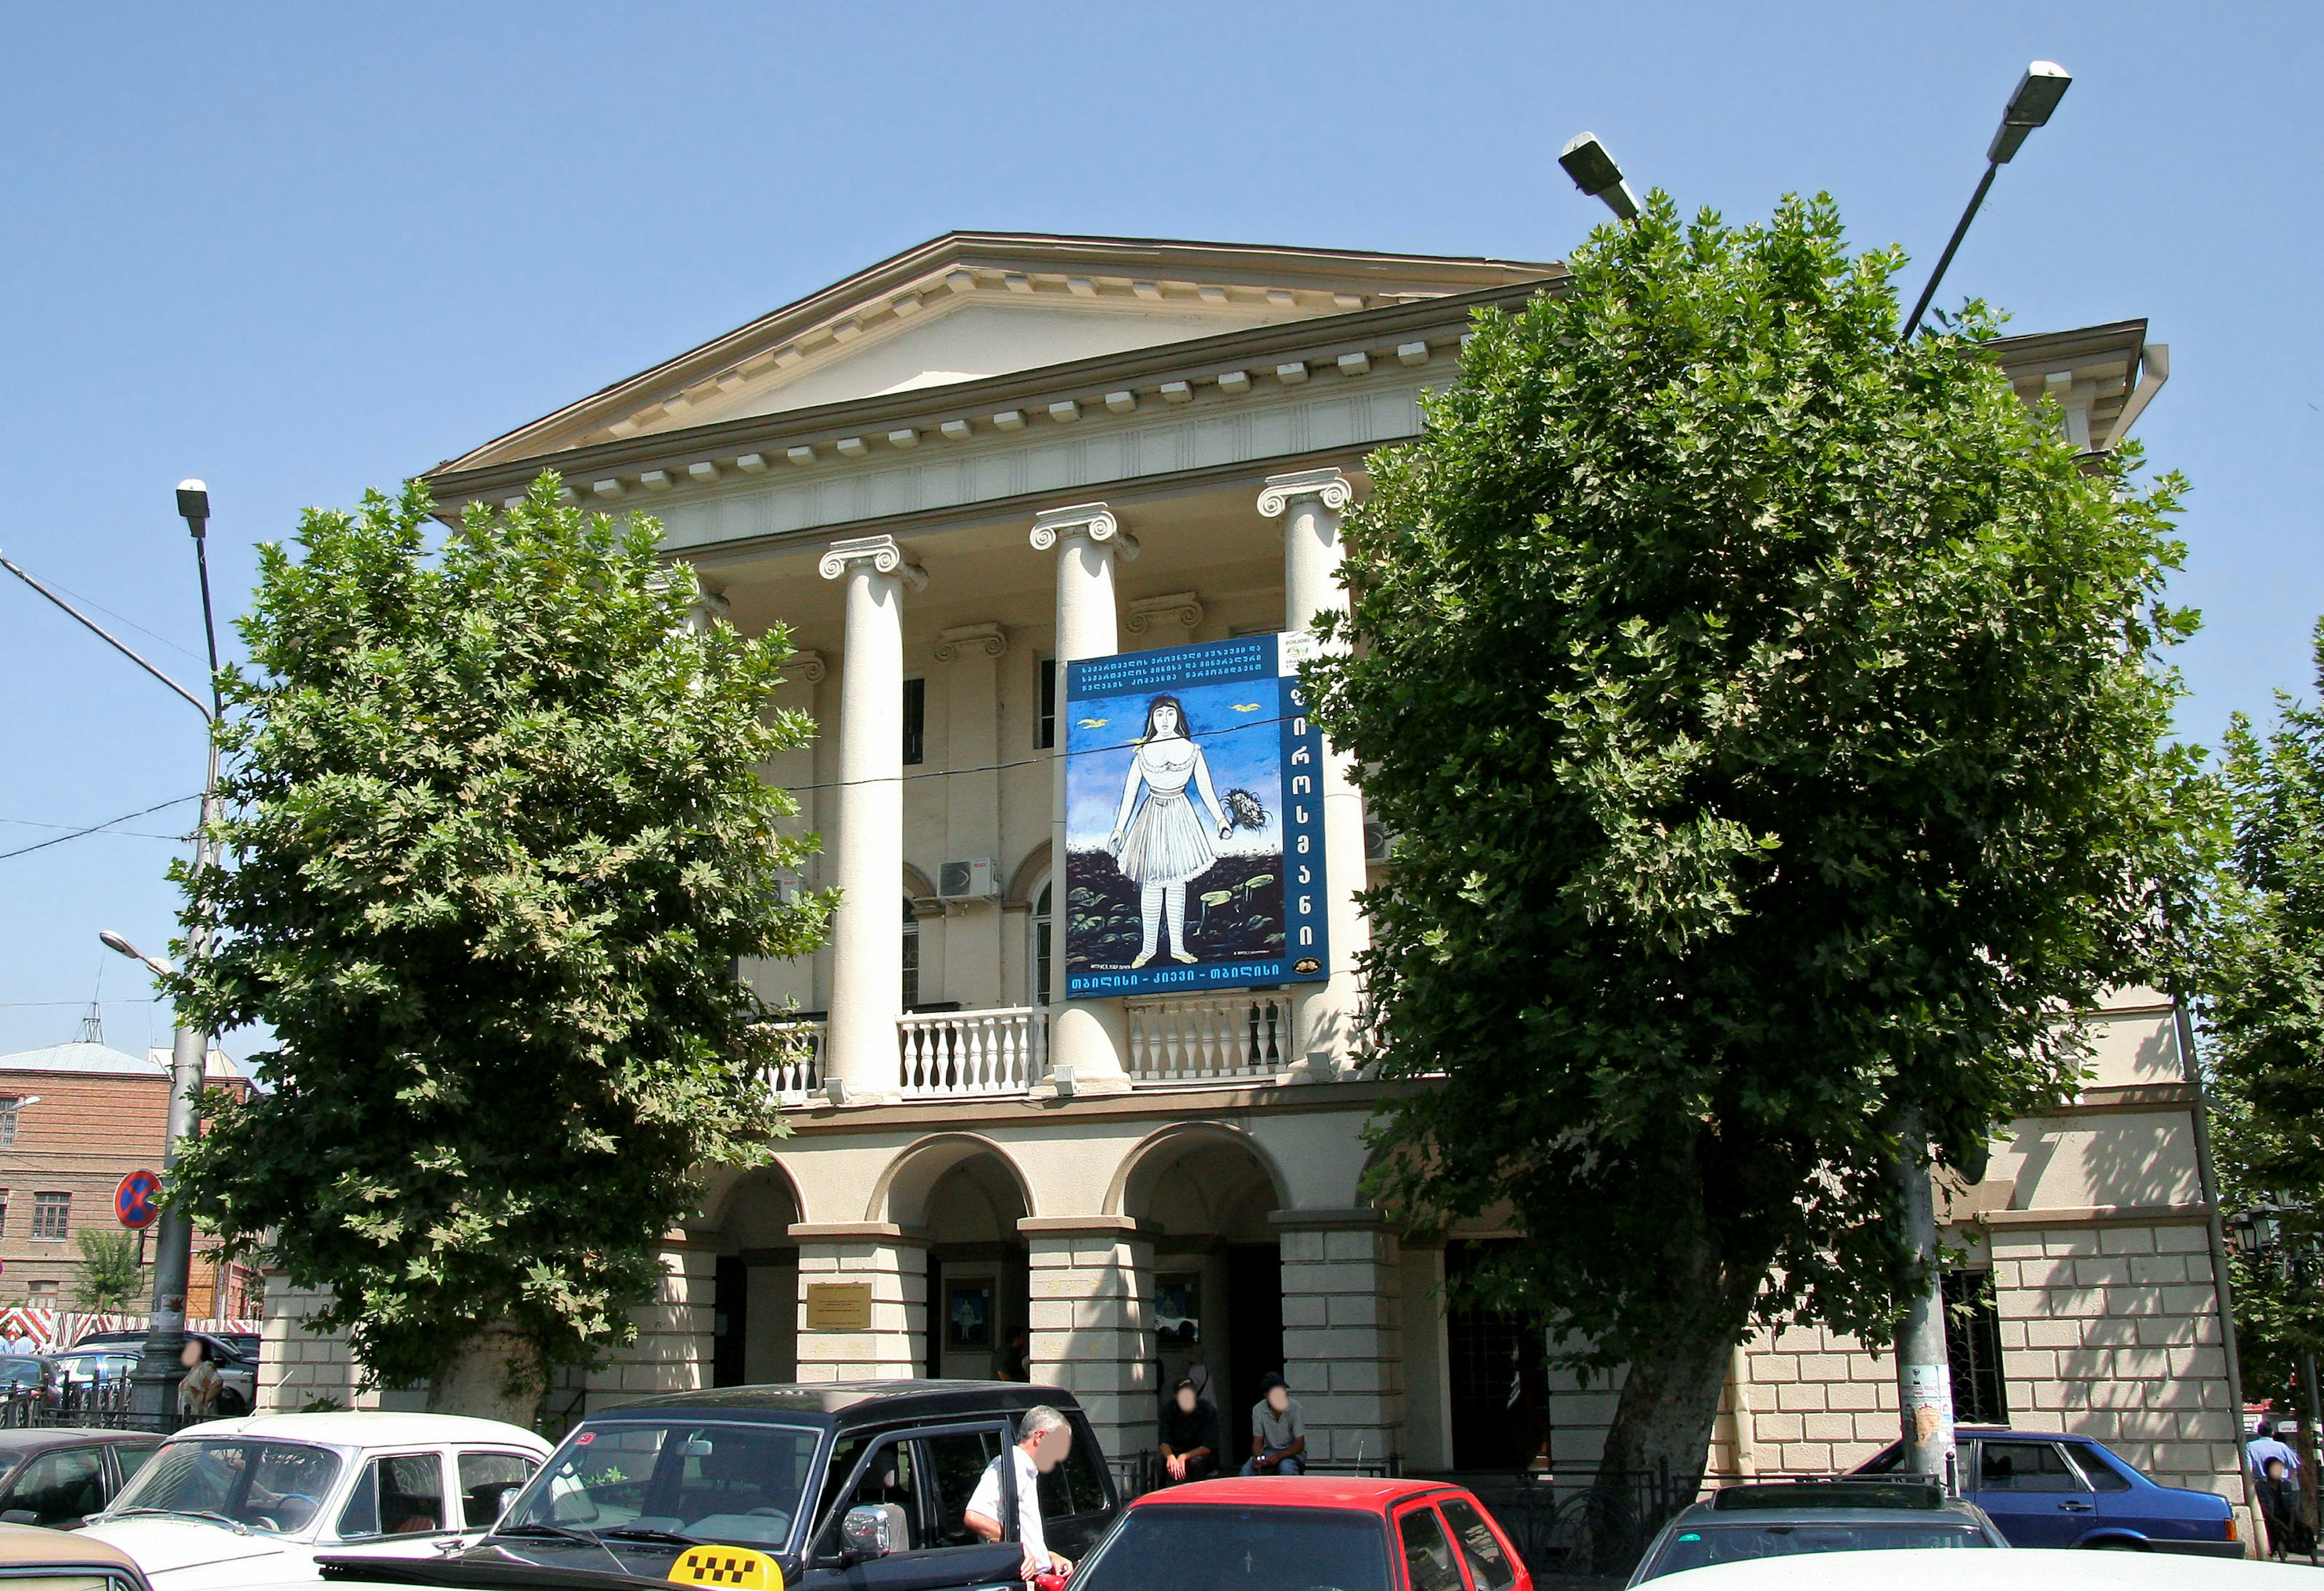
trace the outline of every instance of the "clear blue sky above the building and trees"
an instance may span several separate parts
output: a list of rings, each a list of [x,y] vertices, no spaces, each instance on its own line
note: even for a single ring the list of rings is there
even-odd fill
[[[2027,60],[2075,72],[1952,267],[2015,330],[2147,316],[2194,481],[2187,732],[2324,611],[2315,5],[400,5],[0,9],[0,550],[193,683],[170,488],[232,613],[302,504],[425,469],[951,228],[1557,258],[1641,188],[1831,190],[1934,260]],[[0,850],[193,794],[200,720],[0,585]],[[0,862],[0,1052],[167,1013],[170,808]],[[151,945],[149,945],[151,948]],[[239,1050],[235,1041],[228,1048]]]

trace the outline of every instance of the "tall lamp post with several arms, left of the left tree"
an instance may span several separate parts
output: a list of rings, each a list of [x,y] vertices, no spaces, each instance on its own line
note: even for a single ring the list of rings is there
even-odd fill
[[[218,629],[209,604],[209,553],[205,543],[205,534],[209,530],[209,490],[200,481],[179,481],[177,511],[184,516],[186,530],[193,532],[193,560],[202,581],[202,636],[209,641],[209,704],[202,704],[200,697],[139,657],[119,636],[107,632],[105,625],[81,613],[9,560],[0,557],[0,569],[7,569],[19,581],[37,590],[42,597],[79,620],[86,629],[93,629],[98,639],[158,678],[202,715],[207,729],[202,739],[209,743],[209,771],[202,778],[202,827],[195,832],[193,841],[193,869],[195,873],[202,873],[216,866],[218,859],[216,841],[211,841],[211,827],[218,818],[216,727],[218,715],[225,711],[223,694],[218,692]],[[153,957],[139,952],[137,945],[125,941],[121,934],[105,931],[100,938],[107,950],[116,950],[132,962],[144,962],[163,978],[170,976],[167,962],[156,962]],[[186,955],[200,962],[207,950],[209,924],[195,920],[195,924],[186,931]],[[179,1022],[170,1068],[170,1140],[163,1145],[163,1178],[167,1178],[170,1166],[177,1161],[177,1145],[191,1140],[200,1129],[198,1110],[202,1094],[202,1064],[207,1057],[209,1034]],[[186,1284],[193,1273],[193,1222],[188,1222],[179,1210],[165,1208],[158,1226],[160,1231],[156,1236],[153,1252],[153,1312],[146,1324],[146,1340],[132,1380],[137,1414],[149,1417],[158,1428],[167,1428],[170,1414],[177,1405],[177,1384],[186,1375],[177,1356],[186,1347]]]

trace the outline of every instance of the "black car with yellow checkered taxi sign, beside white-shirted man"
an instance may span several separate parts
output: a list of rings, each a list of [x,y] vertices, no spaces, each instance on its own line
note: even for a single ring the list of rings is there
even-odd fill
[[[1048,1545],[1078,1558],[1120,1505],[1074,1394],[1023,1382],[839,1382],[679,1391],[600,1410],[479,1547],[393,1565],[332,1554],[325,1577],[493,1586],[511,1584],[509,1565],[525,1565],[525,1584],[548,1584],[537,1570],[676,1579],[688,1554],[704,1549],[730,1565],[772,1558],[788,1591],[1009,1584],[1023,1549],[976,1538],[962,1512],[1037,1403],[1074,1426],[1064,1463],[1041,1477],[1041,1521]],[[876,1533],[862,1531],[867,1519]]]

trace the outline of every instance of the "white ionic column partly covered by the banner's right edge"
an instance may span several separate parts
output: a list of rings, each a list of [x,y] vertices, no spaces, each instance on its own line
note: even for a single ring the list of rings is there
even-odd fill
[[[1322,613],[1346,613],[1348,592],[1339,583],[1339,511],[1355,490],[1339,469],[1299,469],[1267,476],[1260,492],[1260,516],[1283,520],[1283,627],[1306,634]],[[1332,980],[1299,985],[1294,1043],[1308,1075],[1327,1057],[1325,1075],[1348,1064],[1362,989],[1355,980],[1355,955],[1371,943],[1371,927],[1357,910],[1355,894],[1364,887],[1364,797],[1348,778],[1350,757],[1325,748],[1322,771],[1322,855],[1332,890]],[[1297,887],[1287,880],[1285,887]]]

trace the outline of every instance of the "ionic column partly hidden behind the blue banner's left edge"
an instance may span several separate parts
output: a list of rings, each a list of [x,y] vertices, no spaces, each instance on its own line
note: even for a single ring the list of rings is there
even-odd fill
[[[1118,999],[1067,999],[1067,922],[1071,892],[1064,859],[1064,667],[1078,657],[1111,657],[1120,650],[1113,627],[1113,560],[1136,557],[1139,543],[1102,502],[1050,509],[1032,523],[1037,553],[1057,548],[1057,750],[1050,773],[1048,855],[1057,931],[1050,936],[1050,1071],[1071,1066],[1076,1094],[1127,1094],[1129,1017]]]

